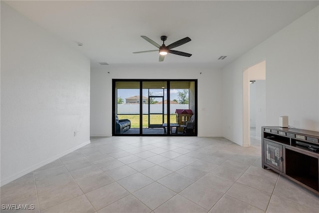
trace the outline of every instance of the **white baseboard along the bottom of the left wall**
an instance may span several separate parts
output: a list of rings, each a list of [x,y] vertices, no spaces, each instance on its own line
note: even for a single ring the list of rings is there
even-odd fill
[[[90,143],[91,143],[91,141],[86,141],[86,142],[84,142],[84,143],[82,143],[80,145],[77,145],[77,146],[75,146],[75,147],[73,147],[73,148],[71,148],[71,149],[69,149],[69,150],[67,150],[67,151],[65,151],[65,152],[63,152],[63,153],[61,153],[59,155],[51,157],[51,158],[49,158],[49,159],[47,159],[45,161],[42,161],[42,162],[40,162],[40,163],[38,163],[36,165],[31,166],[31,167],[29,167],[29,168],[27,168],[27,169],[25,169],[23,171],[20,171],[20,172],[14,174],[14,175],[12,175],[12,176],[10,176],[8,178],[5,178],[5,179],[1,180],[0,186],[2,187],[5,184],[8,184],[11,181],[14,181],[14,180],[16,180],[16,179],[18,179],[18,178],[30,173],[30,172],[33,172],[34,170],[37,170],[40,167],[42,167],[44,165],[47,165],[47,164],[49,164],[49,163],[51,163],[51,162],[53,162],[53,161],[65,156],[65,155],[67,155],[67,154],[69,154],[69,153],[71,153],[71,152],[73,152],[73,151],[75,151],[75,150],[77,150],[77,149],[79,149],[81,147],[84,147],[85,145],[90,144]]]

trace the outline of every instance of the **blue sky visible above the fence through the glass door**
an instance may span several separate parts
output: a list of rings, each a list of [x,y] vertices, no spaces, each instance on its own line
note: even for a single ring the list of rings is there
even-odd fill
[[[182,92],[183,89],[171,89],[170,90],[170,100],[174,100],[178,98],[178,92]],[[148,97],[148,89],[143,89],[143,96]],[[163,95],[163,89],[150,89],[150,92],[153,92],[153,95],[157,96],[161,96]],[[118,97],[121,97],[124,99],[132,97],[132,96],[136,96],[136,95],[140,95],[140,89],[118,89]],[[164,89],[164,100],[167,99],[167,90]]]

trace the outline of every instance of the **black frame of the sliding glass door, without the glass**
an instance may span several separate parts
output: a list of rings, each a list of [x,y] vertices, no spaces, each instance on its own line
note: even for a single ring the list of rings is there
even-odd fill
[[[116,82],[140,82],[140,134],[116,134],[115,133],[115,116],[116,116]],[[165,81],[167,90],[167,134],[143,134],[143,82]],[[170,132],[170,82],[172,81],[189,81],[194,82],[194,104],[195,104],[195,132],[193,135],[172,134]],[[112,79],[112,136],[197,136],[197,79]]]

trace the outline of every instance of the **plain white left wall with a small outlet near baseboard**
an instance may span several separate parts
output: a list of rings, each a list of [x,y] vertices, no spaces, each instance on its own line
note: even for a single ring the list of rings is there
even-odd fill
[[[90,142],[90,61],[3,2],[0,85],[1,185]]]

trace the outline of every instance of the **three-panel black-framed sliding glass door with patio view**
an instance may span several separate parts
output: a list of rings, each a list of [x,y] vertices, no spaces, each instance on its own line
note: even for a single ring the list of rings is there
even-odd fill
[[[113,135],[197,135],[196,91],[197,80],[113,79]]]

